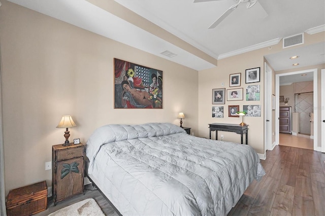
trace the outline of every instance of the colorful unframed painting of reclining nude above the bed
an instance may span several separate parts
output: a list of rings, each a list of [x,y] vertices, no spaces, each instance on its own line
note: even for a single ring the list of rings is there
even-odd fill
[[[114,108],[162,109],[163,71],[114,58]]]

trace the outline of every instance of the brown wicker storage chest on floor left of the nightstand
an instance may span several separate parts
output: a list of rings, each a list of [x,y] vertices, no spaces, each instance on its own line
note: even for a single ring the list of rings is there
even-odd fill
[[[46,181],[10,190],[7,215],[31,215],[47,209]]]

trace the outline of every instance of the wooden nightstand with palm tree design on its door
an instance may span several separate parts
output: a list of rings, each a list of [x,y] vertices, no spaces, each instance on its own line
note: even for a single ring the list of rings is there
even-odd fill
[[[52,196],[57,202],[83,193],[84,146],[52,146]]]

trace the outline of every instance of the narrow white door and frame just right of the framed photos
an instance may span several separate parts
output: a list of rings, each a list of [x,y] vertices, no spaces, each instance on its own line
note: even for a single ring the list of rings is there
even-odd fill
[[[266,151],[272,151],[275,145],[272,147],[272,69],[266,62],[264,62],[264,69],[264,153],[266,155]]]

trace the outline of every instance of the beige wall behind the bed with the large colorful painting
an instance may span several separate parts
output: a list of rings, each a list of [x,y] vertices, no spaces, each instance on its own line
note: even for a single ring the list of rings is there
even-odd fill
[[[85,142],[110,123],[171,122],[198,131],[198,71],[2,1],[0,45],[6,193],[46,180],[51,147],[64,141],[55,128],[72,115],[70,141]],[[113,58],[163,70],[164,109],[113,109]]]

